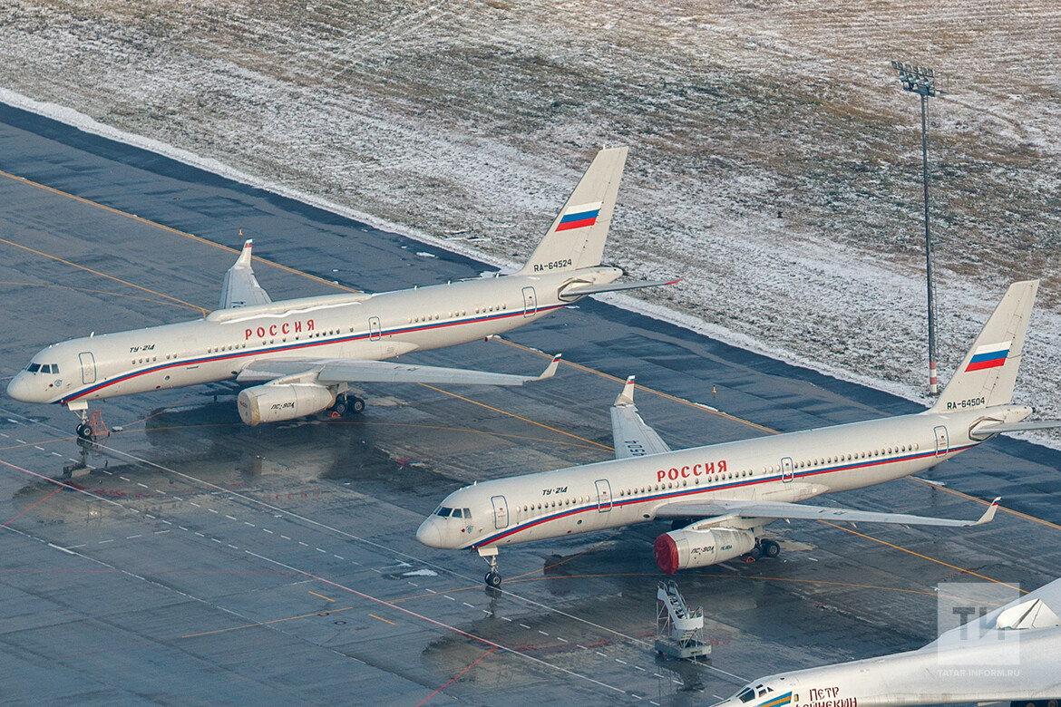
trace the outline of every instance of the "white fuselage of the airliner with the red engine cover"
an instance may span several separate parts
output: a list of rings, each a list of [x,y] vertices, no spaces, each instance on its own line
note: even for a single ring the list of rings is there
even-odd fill
[[[647,523],[676,501],[801,501],[921,472],[984,441],[969,435],[977,422],[1030,413],[926,411],[484,481],[450,494],[417,537],[479,549]]]

